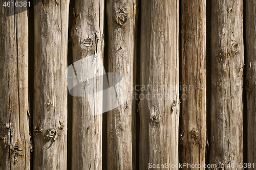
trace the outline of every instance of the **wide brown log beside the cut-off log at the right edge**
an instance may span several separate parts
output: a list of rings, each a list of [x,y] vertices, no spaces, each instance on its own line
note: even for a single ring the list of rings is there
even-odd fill
[[[243,169],[227,167],[243,163],[243,1],[211,2],[209,163]]]

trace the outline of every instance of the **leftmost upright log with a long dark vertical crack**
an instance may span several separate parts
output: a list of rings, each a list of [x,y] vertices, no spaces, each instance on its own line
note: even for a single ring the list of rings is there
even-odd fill
[[[28,11],[8,10],[1,1],[0,169],[30,169]]]

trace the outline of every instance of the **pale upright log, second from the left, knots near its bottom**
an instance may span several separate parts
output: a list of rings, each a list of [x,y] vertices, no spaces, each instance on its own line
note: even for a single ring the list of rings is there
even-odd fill
[[[34,7],[34,169],[66,169],[69,1]]]

